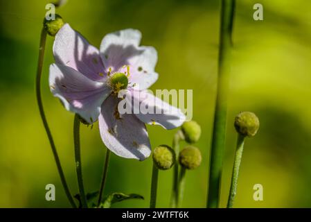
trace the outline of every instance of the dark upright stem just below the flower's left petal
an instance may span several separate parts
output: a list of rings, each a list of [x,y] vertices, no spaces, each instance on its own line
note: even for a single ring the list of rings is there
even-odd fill
[[[78,187],[80,192],[80,200],[83,208],[87,208],[87,196],[85,196],[85,187],[82,178],[82,166],[80,155],[80,118],[75,114],[73,121],[73,143],[75,146],[75,170],[77,172]]]

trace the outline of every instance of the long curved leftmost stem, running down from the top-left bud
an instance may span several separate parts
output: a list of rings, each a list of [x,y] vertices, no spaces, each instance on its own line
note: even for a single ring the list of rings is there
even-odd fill
[[[36,84],[35,84],[35,92],[37,97],[37,105],[39,107],[40,117],[42,119],[42,123],[44,125],[44,129],[46,130],[46,135],[48,136],[48,141],[50,142],[52,153],[54,155],[56,167],[58,174],[60,175],[60,180],[62,182],[62,187],[64,187],[65,194],[71,203],[71,206],[76,208],[75,201],[71,196],[71,192],[66,182],[66,178],[64,176],[64,171],[62,171],[62,165],[60,164],[60,157],[58,157],[57,150],[54,144],[54,140],[52,137],[52,133],[50,128],[48,127],[48,122],[46,120],[46,116],[44,113],[43,103],[42,103],[42,96],[41,96],[41,77],[42,77],[42,67],[43,67],[43,60],[44,60],[44,50],[46,44],[46,31],[42,28],[41,37],[40,37],[40,44],[39,44],[39,58],[37,64],[37,76],[36,76]]]

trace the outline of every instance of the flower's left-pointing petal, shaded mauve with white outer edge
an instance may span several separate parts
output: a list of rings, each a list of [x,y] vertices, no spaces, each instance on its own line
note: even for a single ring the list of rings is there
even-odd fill
[[[78,113],[89,123],[98,119],[100,107],[111,93],[105,83],[90,80],[71,67],[57,64],[50,66],[49,85],[66,110]]]

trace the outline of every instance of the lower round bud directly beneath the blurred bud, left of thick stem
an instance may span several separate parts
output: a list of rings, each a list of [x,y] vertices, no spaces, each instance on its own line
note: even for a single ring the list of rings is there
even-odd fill
[[[202,161],[202,155],[195,146],[186,146],[179,153],[179,164],[186,169],[196,169]]]

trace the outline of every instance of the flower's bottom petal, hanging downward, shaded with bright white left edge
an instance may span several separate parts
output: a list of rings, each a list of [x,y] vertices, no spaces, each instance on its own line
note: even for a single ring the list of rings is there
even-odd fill
[[[145,124],[134,114],[116,118],[117,105],[118,99],[114,96],[109,96],[103,103],[98,123],[104,144],[118,156],[145,160],[151,153]]]

